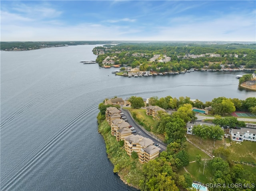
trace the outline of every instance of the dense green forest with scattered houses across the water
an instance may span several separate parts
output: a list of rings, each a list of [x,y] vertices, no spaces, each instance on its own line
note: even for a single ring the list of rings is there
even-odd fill
[[[176,72],[190,68],[256,67],[256,44],[121,43],[95,47],[92,51],[98,55],[96,61],[100,66],[103,66],[102,62],[108,57],[114,64],[121,66],[140,66],[141,71]],[[159,57],[150,61],[154,55]],[[170,61],[161,61],[166,57],[170,57]]]

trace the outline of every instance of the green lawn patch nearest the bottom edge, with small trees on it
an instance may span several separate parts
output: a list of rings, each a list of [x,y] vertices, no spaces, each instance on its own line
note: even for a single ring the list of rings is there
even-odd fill
[[[188,170],[188,172],[192,175],[193,181],[200,181],[204,184],[210,183],[210,179],[212,177],[212,167],[209,163],[210,160],[208,160],[208,163],[205,166],[200,167],[199,172],[199,165],[197,163],[190,163],[185,168]],[[204,174],[203,174],[204,170]]]

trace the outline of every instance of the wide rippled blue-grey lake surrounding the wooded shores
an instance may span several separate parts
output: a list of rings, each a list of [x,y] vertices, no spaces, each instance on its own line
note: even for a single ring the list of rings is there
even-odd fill
[[[1,51],[2,190],[135,190],[113,173],[98,134],[98,104],[105,98],[255,96],[238,89],[235,77],[244,72],[128,78],[80,63],[96,59],[96,46]]]

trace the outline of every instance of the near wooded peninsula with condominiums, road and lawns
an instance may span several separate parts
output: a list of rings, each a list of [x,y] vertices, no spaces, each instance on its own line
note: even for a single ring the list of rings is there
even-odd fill
[[[237,190],[244,186],[254,190],[255,97],[219,97],[206,103],[189,97],[114,97],[106,98],[98,108],[98,132],[113,171],[130,186],[144,191],[196,190],[198,186],[214,190],[210,185],[219,181],[246,180],[248,185]],[[207,113],[207,123],[197,119],[200,113]],[[242,143],[250,157],[234,157],[241,149],[236,142]],[[233,174],[237,169],[239,178]]]

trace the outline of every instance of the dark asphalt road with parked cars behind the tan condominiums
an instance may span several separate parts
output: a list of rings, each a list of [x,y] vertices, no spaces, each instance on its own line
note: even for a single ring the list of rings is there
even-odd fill
[[[149,136],[148,134],[146,134],[139,126],[138,124],[136,124],[136,122],[132,119],[132,117],[130,116],[130,113],[126,110],[123,110],[122,108],[120,109],[125,115],[126,115],[126,118],[125,119],[128,119],[128,123],[133,126],[137,132],[136,133],[133,133],[134,135],[138,134],[138,135],[141,135],[143,137],[146,137],[146,138],[149,138],[151,139],[154,143],[158,143],[160,145],[160,152],[162,151],[165,151],[166,150],[166,146],[163,145],[161,142],[159,142],[158,140],[152,138],[151,136]],[[124,120],[124,119],[123,119]]]

